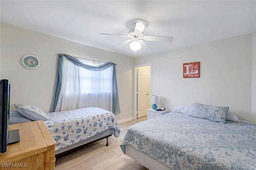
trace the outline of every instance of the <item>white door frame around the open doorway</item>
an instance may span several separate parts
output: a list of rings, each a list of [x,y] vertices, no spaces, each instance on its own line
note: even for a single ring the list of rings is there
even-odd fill
[[[133,66],[133,119],[137,119],[137,71],[138,67],[150,66],[150,103],[152,96],[152,63],[140,64]],[[149,109],[149,108],[148,108]]]

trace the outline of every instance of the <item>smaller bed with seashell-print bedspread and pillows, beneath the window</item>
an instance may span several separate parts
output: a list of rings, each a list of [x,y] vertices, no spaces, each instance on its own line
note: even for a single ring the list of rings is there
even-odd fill
[[[86,107],[70,111],[44,113],[32,105],[14,104],[16,111],[10,111],[10,125],[29,121],[44,121],[56,142],[55,154],[69,152],[73,148],[108,137],[117,138],[120,129],[115,115],[98,107]]]

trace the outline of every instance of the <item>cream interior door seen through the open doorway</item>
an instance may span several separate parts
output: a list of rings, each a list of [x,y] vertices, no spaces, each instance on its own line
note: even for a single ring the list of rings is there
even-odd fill
[[[138,67],[137,77],[137,118],[140,118],[150,108],[150,66]]]

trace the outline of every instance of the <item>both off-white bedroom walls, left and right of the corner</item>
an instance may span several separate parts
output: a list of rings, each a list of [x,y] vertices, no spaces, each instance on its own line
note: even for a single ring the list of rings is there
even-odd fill
[[[229,106],[241,119],[256,123],[256,32],[166,51],[127,57],[70,42],[46,34],[1,23],[0,77],[11,81],[11,104],[28,103],[50,110],[54,90],[57,53],[117,63],[121,114],[132,117],[133,65],[152,63],[152,89],[162,97],[162,106],[200,102]],[[40,68],[28,70],[20,64],[25,54],[41,60]],[[135,61],[134,61],[135,60]],[[183,63],[200,61],[200,78],[183,78]]]

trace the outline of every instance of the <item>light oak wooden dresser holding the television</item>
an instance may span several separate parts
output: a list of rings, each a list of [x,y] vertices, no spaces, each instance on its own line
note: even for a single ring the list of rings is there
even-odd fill
[[[1,170],[54,170],[55,141],[43,121],[9,126],[19,129],[20,142],[7,146],[0,154]]]

